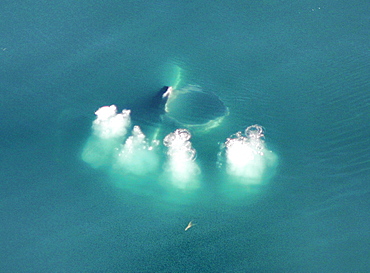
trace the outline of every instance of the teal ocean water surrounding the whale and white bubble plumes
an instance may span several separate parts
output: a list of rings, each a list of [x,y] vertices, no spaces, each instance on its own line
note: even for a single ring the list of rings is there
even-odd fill
[[[4,1],[0,272],[369,272],[369,18],[367,1]],[[86,163],[94,112],[145,108],[176,67],[229,110],[188,128],[197,187],[167,183],[163,145],[150,174]],[[217,155],[253,124],[276,169],[250,184]]]

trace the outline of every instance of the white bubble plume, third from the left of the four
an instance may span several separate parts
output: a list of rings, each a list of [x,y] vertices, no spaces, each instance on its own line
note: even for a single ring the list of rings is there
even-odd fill
[[[168,148],[165,179],[179,189],[199,187],[200,168],[195,163],[196,151],[189,141],[190,138],[188,130],[177,129],[163,140],[163,144]]]

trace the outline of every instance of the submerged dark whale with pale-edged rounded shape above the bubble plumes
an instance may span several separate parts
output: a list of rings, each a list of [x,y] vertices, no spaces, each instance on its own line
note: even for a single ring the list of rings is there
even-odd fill
[[[207,133],[229,115],[219,96],[197,84],[188,84],[184,74],[179,66],[172,67],[167,85],[131,109],[133,124],[139,125],[149,139],[179,128]]]

